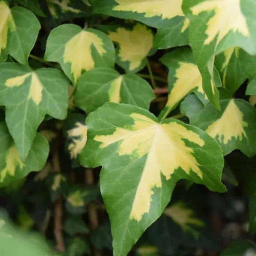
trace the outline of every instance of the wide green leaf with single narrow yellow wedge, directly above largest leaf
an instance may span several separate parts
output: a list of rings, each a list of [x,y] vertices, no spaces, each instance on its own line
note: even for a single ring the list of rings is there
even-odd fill
[[[77,107],[90,113],[108,101],[148,109],[154,98],[148,82],[139,76],[120,75],[110,68],[95,68],[79,78],[74,102]]]

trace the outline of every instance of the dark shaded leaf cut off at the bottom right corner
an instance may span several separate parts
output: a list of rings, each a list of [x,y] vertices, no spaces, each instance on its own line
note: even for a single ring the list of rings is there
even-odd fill
[[[254,256],[256,254],[255,249],[255,246],[249,241],[236,240],[221,252],[220,256]]]

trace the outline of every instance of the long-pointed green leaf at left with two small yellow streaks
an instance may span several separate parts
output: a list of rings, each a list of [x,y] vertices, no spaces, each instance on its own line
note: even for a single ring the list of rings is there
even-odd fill
[[[0,64],[0,105],[8,129],[24,161],[46,114],[64,119],[68,108],[68,79],[57,69],[32,70],[18,63]]]

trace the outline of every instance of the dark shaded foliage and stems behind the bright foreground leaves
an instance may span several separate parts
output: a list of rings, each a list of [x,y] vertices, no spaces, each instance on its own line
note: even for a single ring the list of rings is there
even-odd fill
[[[64,4],[63,9],[61,3],[65,2],[68,5]],[[120,26],[130,29],[137,23],[92,14],[86,0],[72,0],[70,3],[63,0],[14,0],[9,4],[27,7],[41,23],[42,29],[29,58],[29,66],[34,69],[49,66],[60,69],[59,64],[42,59],[50,31],[60,24],[72,23],[106,32]],[[151,30],[156,32],[155,28]],[[168,93],[168,69],[158,59],[172,50],[151,50],[139,71],[141,77],[160,88],[155,90],[157,97],[150,105],[150,111],[156,115],[164,107]],[[8,56],[8,61],[14,60]],[[116,70],[124,74],[127,63],[117,63]],[[155,76],[154,81],[150,72]],[[236,91],[235,98],[248,100],[244,96],[247,84],[248,81],[244,82]],[[21,230],[38,231],[45,236],[50,247],[56,248],[56,255],[112,255],[110,224],[99,189],[100,168],[84,168],[69,155],[72,139],[68,130],[74,127],[75,122],[83,123],[85,119],[84,112],[73,107],[71,101],[66,120],[57,121],[46,116],[39,127],[50,141],[46,166],[39,173],[30,173],[26,178],[1,188],[1,207]],[[179,114],[179,106],[172,113]],[[4,120],[3,109],[1,120]],[[188,123],[185,116],[180,116],[180,120]],[[225,156],[222,175],[222,181],[228,188],[225,194],[179,181],[167,207],[172,209],[171,213],[166,210],[143,234],[129,255],[243,255],[248,248],[253,248],[256,238],[253,215],[255,165],[256,157],[248,158],[238,150]],[[227,251],[223,251],[226,247]],[[53,255],[52,251],[49,255]],[[255,253],[253,249],[250,252]]]

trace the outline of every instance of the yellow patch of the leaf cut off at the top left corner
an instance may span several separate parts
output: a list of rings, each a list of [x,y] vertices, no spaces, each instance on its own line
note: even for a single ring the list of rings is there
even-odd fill
[[[7,46],[8,30],[15,30],[12,12],[4,1],[0,1],[0,54]]]

